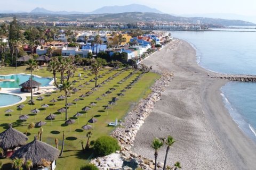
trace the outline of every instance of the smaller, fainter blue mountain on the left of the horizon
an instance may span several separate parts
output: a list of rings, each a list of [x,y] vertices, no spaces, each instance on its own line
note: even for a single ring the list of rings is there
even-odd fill
[[[49,11],[45,8],[36,7],[34,10],[30,12],[31,14],[59,14],[59,15],[70,15],[70,14],[86,14],[84,12],[77,12],[77,11]]]

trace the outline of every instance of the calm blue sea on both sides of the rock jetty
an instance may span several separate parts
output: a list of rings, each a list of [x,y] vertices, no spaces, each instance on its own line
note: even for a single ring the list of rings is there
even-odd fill
[[[256,29],[171,33],[196,49],[198,64],[207,70],[256,75],[256,32],[253,31]],[[221,91],[223,102],[234,121],[256,141],[256,83],[229,82]]]

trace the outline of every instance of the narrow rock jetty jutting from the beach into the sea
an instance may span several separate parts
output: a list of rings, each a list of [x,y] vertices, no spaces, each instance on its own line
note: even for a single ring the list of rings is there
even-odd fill
[[[221,75],[214,75],[214,76],[208,75],[208,76],[211,78],[220,78],[220,79],[226,79],[230,81],[256,82],[255,75],[221,74]]]

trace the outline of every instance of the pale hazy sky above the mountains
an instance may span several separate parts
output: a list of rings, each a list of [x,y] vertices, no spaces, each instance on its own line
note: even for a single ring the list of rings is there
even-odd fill
[[[51,11],[91,12],[103,6],[142,4],[169,14],[229,13],[256,16],[256,0],[0,0],[0,11],[30,12],[36,7]]]

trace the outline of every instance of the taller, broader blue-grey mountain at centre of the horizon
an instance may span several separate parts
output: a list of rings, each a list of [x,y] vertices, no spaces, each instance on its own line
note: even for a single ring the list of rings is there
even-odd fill
[[[131,5],[124,5],[124,6],[104,6],[89,14],[114,14],[114,13],[124,13],[124,12],[151,12],[151,13],[163,13],[156,8],[150,8],[146,5],[139,5],[139,4],[131,4]]]

